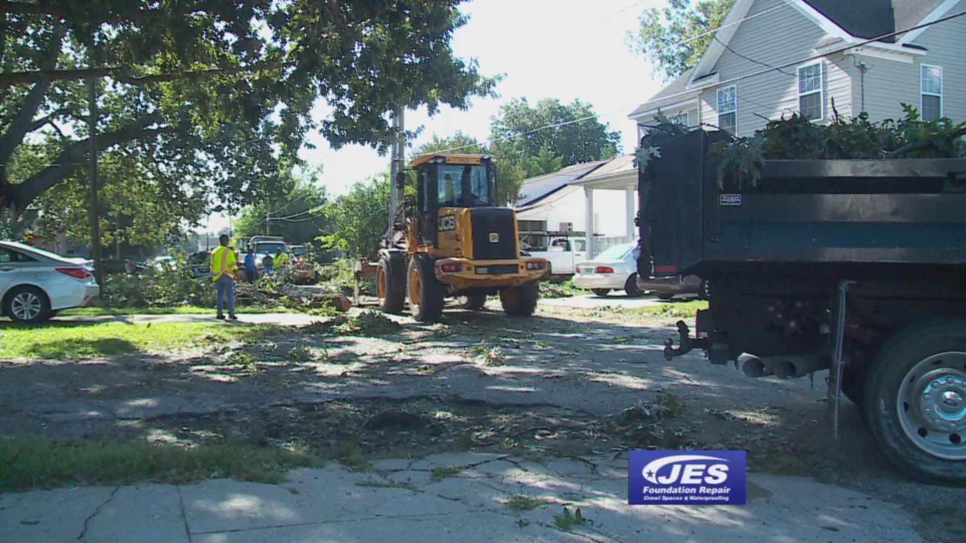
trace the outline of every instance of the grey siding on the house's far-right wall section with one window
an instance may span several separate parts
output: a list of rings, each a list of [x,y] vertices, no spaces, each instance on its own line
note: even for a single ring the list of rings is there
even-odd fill
[[[966,10],[966,1],[950,10],[955,14]],[[966,121],[966,17],[958,17],[931,26],[912,43],[927,49],[923,56],[909,63],[874,57],[862,57],[869,66],[866,73],[866,110],[873,121],[899,119],[902,103],[920,106],[920,68],[923,64],[943,67],[943,115],[953,122]],[[856,96],[861,100],[861,89]]]

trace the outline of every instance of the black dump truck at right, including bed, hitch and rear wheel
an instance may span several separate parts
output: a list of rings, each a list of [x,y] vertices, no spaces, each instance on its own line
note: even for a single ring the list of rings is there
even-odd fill
[[[639,173],[639,275],[710,295],[665,357],[829,370],[836,432],[840,391],[896,467],[966,482],[966,159],[764,160],[739,187],[711,151],[727,139],[655,138]]]

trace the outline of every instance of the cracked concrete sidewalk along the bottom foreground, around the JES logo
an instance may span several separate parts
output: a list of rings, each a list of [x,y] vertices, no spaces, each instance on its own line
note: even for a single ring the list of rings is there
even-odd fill
[[[434,478],[439,468],[452,469]],[[542,501],[515,509],[526,503],[520,497]],[[564,505],[580,507],[586,523],[556,527]],[[752,475],[747,505],[629,506],[626,458],[543,465],[481,453],[386,460],[373,472],[330,464],[280,485],[221,479],[5,494],[0,534],[6,543],[922,541],[895,505],[810,479]]]

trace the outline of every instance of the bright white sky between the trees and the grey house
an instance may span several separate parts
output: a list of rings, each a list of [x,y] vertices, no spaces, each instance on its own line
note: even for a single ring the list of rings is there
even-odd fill
[[[640,102],[662,87],[651,65],[630,51],[627,30],[637,27],[639,14],[665,0],[476,0],[462,6],[469,22],[456,31],[453,49],[462,58],[476,58],[485,75],[505,74],[497,86],[498,99],[475,99],[469,111],[443,107],[430,118],[425,109],[406,112],[406,128],[423,127],[412,144],[433,134],[444,137],[462,130],[480,140],[488,137],[490,117],[499,105],[514,98],[530,102],[556,98],[589,102],[600,120],[623,134],[623,152],[634,150],[637,129],[627,118]],[[327,114],[320,101],[318,118]],[[383,171],[388,157],[368,147],[329,148],[318,133],[309,137],[317,147],[303,149],[310,165],[325,168],[323,183],[329,193],[341,194],[357,181]],[[228,225],[213,215],[211,230]]]

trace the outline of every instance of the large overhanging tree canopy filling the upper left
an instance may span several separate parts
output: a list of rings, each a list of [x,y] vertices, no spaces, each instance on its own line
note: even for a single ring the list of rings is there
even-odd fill
[[[435,113],[492,94],[496,80],[450,47],[459,4],[0,2],[3,207],[20,213],[82,182],[90,75],[99,150],[136,158],[161,193],[210,195],[210,211],[277,195],[280,163],[298,163],[310,130],[333,148],[385,150],[394,105]],[[321,121],[318,98],[331,108]]]

